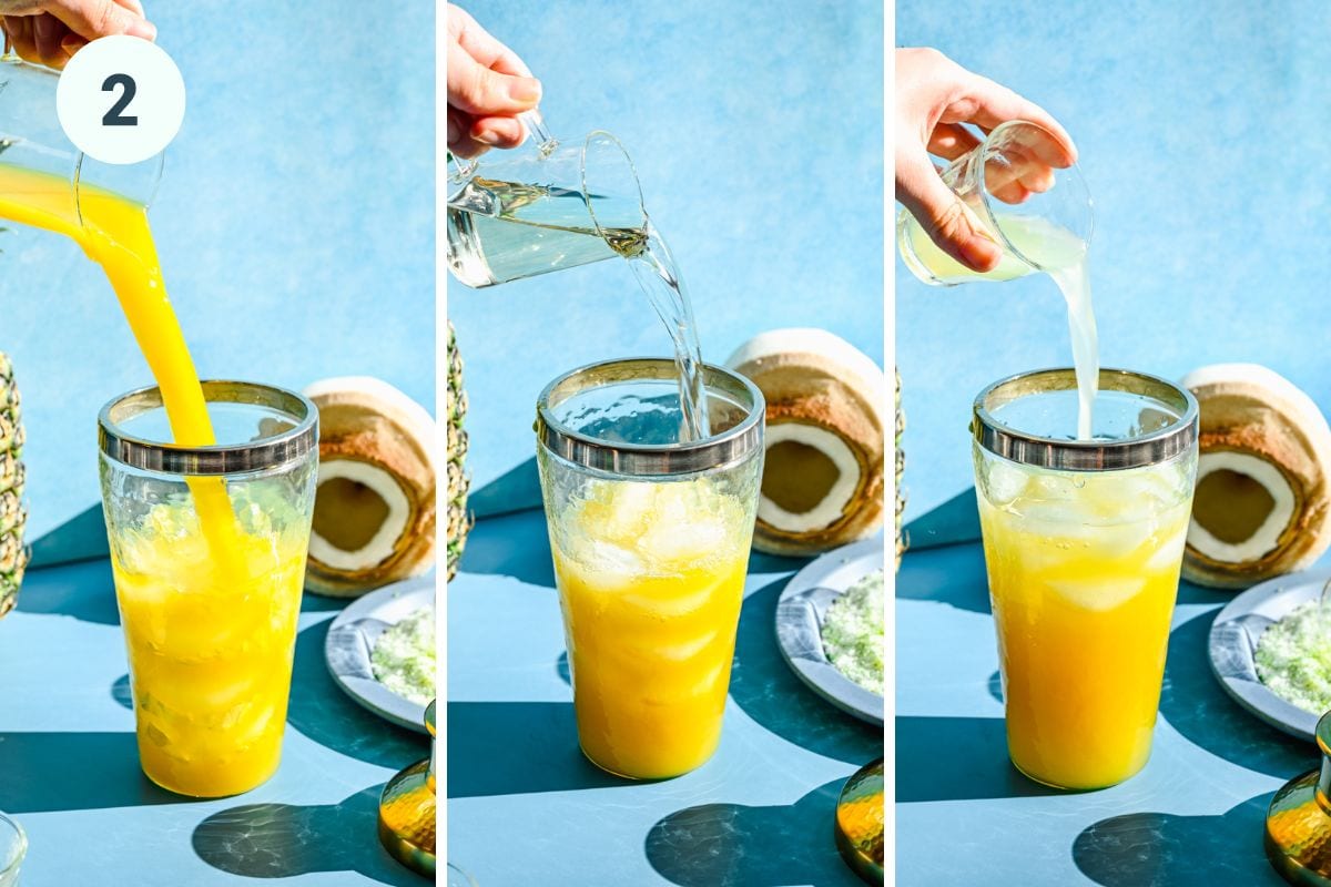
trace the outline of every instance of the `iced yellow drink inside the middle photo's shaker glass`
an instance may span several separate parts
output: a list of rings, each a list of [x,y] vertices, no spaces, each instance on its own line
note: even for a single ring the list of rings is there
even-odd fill
[[[551,527],[578,738],[623,777],[688,773],[720,741],[753,515],[712,487],[595,480]]]

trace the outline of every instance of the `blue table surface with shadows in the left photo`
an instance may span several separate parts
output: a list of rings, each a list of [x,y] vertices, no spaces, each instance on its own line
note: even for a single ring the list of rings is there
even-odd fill
[[[323,662],[339,601],[305,596],[282,765],[234,798],[169,794],[138,769],[108,561],[28,573],[0,620],[0,810],[28,832],[21,887],[429,883],[379,846],[383,783],[425,735],[342,694]]]

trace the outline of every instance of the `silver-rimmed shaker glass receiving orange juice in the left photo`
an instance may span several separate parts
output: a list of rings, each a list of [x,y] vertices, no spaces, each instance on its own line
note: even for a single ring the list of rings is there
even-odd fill
[[[98,419],[110,564],[144,773],[177,794],[248,791],[277,770],[318,473],[318,411],[204,382],[218,444],[177,447],[161,392]]]

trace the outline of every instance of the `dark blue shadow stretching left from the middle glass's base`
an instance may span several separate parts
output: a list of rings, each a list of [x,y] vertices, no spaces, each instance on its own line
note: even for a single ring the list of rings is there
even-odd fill
[[[449,797],[483,798],[635,785],[578,747],[572,702],[450,702]]]

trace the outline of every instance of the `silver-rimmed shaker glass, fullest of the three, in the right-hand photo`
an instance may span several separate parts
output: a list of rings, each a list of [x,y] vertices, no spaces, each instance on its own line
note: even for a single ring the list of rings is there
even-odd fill
[[[1145,766],[1197,475],[1193,395],[1102,370],[1077,440],[1071,368],[976,398],[974,464],[1008,751],[1061,789]]]

